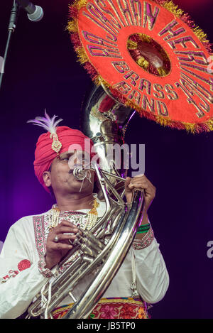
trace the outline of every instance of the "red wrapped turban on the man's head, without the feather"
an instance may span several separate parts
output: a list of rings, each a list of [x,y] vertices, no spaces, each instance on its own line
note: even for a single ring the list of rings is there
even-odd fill
[[[60,149],[60,154],[69,151],[70,145],[80,145],[74,147],[76,150],[87,151],[91,159],[95,153],[92,153],[92,141],[84,134],[77,129],[70,129],[67,126],[58,126],[57,127],[58,140],[62,143],[62,148]],[[87,141],[85,141],[87,139]],[[57,157],[57,153],[53,151],[52,148],[53,138],[50,138],[50,132],[43,133],[39,138],[36,144],[35,149],[35,161],[34,169],[35,175],[38,178],[38,181],[41,185],[50,192],[48,187],[45,186],[43,181],[43,173],[50,169],[50,165],[53,163],[53,160]],[[86,143],[86,144],[85,144]]]

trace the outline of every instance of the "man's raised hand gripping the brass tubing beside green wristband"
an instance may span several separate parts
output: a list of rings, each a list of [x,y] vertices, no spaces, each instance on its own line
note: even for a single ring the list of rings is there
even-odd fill
[[[155,198],[156,189],[145,175],[138,175],[134,178],[126,177],[125,195],[127,202],[131,202],[133,188],[138,187],[144,190],[143,214],[146,214],[148,207]]]

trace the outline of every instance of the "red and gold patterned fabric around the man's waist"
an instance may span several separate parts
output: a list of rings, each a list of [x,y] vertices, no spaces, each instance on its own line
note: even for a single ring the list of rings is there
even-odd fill
[[[54,319],[66,315],[72,304],[56,308],[53,312]],[[146,302],[140,298],[102,298],[94,307],[88,319],[149,319]]]

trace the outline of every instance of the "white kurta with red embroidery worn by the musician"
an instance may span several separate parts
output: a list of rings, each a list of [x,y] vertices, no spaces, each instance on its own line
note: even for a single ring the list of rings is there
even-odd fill
[[[88,213],[89,209],[79,212]],[[97,207],[99,217],[105,212],[105,203],[99,202]],[[9,229],[8,236],[0,256],[0,318],[15,319],[23,314],[31,304],[35,295],[48,281],[38,271],[40,256],[45,254],[45,241],[49,232],[50,212],[36,217],[23,217]],[[67,217],[75,223],[77,216]],[[84,219],[84,217],[81,217]],[[129,297],[132,294],[133,257],[136,265],[136,288],[138,295],[148,303],[163,299],[169,284],[168,271],[165,267],[159,244],[155,239],[145,249],[131,249],[124,263],[119,268],[114,279],[103,297]],[[94,275],[87,275],[75,288],[75,297],[79,297],[85,285]],[[72,302],[66,297],[60,305]]]

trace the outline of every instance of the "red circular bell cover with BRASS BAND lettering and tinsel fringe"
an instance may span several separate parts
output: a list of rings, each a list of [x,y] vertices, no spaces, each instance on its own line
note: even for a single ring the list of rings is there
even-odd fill
[[[212,131],[211,48],[178,6],[165,0],[80,0],[70,6],[70,17],[80,62],[119,102],[164,126]],[[166,75],[155,75],[133,59],[128,43],[136,34],[168,55]]]

